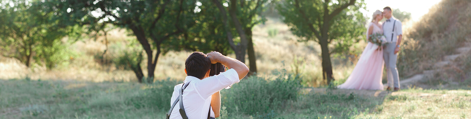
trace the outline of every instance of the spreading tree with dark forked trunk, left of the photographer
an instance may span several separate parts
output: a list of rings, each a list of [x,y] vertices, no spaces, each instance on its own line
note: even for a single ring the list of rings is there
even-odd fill
[[[43,7],[66,25],[102,30],[109,23],[130,30],[146,53],[147,81],[152,83],[159,55],[176,49],[179,43],[172,39],[182,37],[189,25],[184,16],[191,15],[188,9],[194,4],[187,0],[48,0]]]

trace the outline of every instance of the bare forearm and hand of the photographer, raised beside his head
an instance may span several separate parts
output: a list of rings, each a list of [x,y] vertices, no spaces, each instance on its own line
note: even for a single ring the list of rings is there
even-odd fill
[[[249,73],[249,68],[239,60],[235,60],[233,58],[224,56],[221,53],[214,52],[214,51],[208,53],[207,55],[208,55],[209,60],[211,60],[212,64],[219,62],[222,65],[225,65],[226,67],[228,67],[229,69],[233,68],[239,75],[239,80],[244,78],[245,75]]]

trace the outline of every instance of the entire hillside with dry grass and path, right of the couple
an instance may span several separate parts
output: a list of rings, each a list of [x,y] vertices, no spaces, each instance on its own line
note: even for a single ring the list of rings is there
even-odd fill
[[[470,11],[470,2],[443,0],[405,31],[398,70],[403,77],[416,80],[407,86],[470,87]]]

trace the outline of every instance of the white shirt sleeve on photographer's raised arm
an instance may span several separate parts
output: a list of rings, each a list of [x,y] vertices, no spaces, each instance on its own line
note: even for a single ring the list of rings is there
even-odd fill
[[[200,96],[206,100],[208,97],[211,97],[212,94],[237,82],[240,82],[239,75],[231,68],[226,72],[210,76],[194,84]]]

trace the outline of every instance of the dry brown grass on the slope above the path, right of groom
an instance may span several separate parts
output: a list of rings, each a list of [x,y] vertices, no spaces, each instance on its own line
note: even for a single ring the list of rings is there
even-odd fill
[[[433,69],[444,56],[466,46],[471,38],[470,13],[471,3],[466,0],[443,0],[406,28],[398,58],[399,74],[409,77]]]

